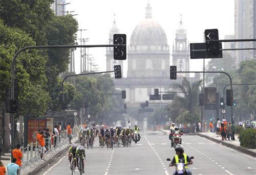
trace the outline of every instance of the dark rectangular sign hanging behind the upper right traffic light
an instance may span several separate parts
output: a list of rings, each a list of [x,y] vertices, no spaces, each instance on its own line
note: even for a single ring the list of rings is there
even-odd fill
[[[219,42],[219,47],[222,49],[222,43]],[[206,43],[190,43],[190,59],[203,59],[203,58],[213,58],[213,57],[207,57],[206,55]],[[195,51],[195,50],[203,50],[203,51]],[[219,57],[214,58],[222,58],[222,51],[220,51]]]

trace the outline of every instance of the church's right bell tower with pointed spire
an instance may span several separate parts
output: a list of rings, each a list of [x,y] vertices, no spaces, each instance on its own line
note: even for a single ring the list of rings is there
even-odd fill
[[[177,71],[189,71],[189,45],[187,43],[186,30],[182,26],[181,15],[180,27],[176,30],[172,56],[173,65],[177,66]],[[189,77],[189,73],[178,73],[177,77]]]

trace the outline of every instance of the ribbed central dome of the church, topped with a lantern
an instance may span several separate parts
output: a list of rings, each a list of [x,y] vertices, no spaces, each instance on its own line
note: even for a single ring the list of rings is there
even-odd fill
[[[150,4],[147,3],[146,16],[134,29],[130,44],[166,45],[167,37],[160,24],[152,18]]]

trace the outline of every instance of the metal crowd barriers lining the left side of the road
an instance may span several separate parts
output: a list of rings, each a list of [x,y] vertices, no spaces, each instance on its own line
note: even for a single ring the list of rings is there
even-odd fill
[[[77,140],[78,139],[78,128],[73,128],[72,131],[72,138]],[[57,136],[51,135],[50,138],[45,139],[45,147],[47,151],[43,154],[43,158],[46,160],[50,158],[54,153],[58,152],[58,149],[61,147],[67,146],[69,143],[68,134],[66,131],[61,131]],[[56,144],[55,143],[56,139]],[[29,143],[26,147],[22,146],[22,170],[27,171],[27,168],[32,168],[41,162],[40,158],[40,145],[38,141],[35,143]]]

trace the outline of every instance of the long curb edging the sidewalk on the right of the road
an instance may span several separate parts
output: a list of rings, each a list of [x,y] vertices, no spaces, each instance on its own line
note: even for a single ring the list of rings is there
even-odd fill
[[[211,141],[214,141],[214,142],[217,142],[217,143],[221,143],[222,145],[225,145],[227,147],[231,147],[233,149],[236,149],[242,153],[245,153],[245,154],[248,154],[250,156],[253,156],[253,157],[256,157],[256,153],[254,153],[253,151],[249,150],[249,149],[246,149],[245,147],[242,147],[242,146],[236,146],[236,145],[233,145],[231,143],[228,143],[228,142],[225,142],[225,141],[222,141],[222,140],[219,140],[219,139],[215,139],[215,138],[212,138],[212,137],[209,137],[209,136],[206,136],[206,135],[203,135],[203,134],[200,134],[200,133],[197,133],[196,135],[200,136],[200,137],[204,137],[204,138],[207,138]]]

